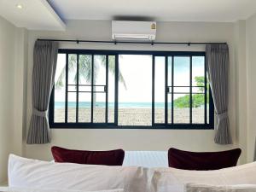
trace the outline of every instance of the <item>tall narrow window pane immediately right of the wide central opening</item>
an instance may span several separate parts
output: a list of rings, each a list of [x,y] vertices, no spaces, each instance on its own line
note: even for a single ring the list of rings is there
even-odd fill
[[[154,123],[165,123],[166,60],[164,56],[154,57]]]

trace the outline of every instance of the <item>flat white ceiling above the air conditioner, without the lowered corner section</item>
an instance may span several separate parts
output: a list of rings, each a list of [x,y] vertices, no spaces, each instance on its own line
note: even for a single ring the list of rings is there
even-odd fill
[[[113,20],[116,17],[157,21],[219,21],[247,19],[256,0],[48,0],[64,20]]]

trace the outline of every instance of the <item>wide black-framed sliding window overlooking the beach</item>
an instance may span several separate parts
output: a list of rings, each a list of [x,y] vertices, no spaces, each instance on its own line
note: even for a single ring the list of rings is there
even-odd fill
[[[213,129],[204,52],[59,49],[51,128]]]

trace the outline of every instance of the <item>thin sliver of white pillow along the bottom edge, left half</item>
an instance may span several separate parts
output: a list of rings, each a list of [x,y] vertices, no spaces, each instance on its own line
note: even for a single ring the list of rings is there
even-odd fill
[[[1,191],[7,192],[124,192],[123,189],[113,189],[113,190],[98,190],[98,191],[84,191],[84,190],[67,190],[67,189],[28,189],[28,188],[11,188],[6,187],[0,189]]]

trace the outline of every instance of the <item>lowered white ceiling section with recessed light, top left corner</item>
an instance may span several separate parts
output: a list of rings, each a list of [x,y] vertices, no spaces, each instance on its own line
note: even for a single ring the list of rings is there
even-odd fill
[[[46,0],[0,0],[0,15],[29,30],[65,31],[66,25]]]

